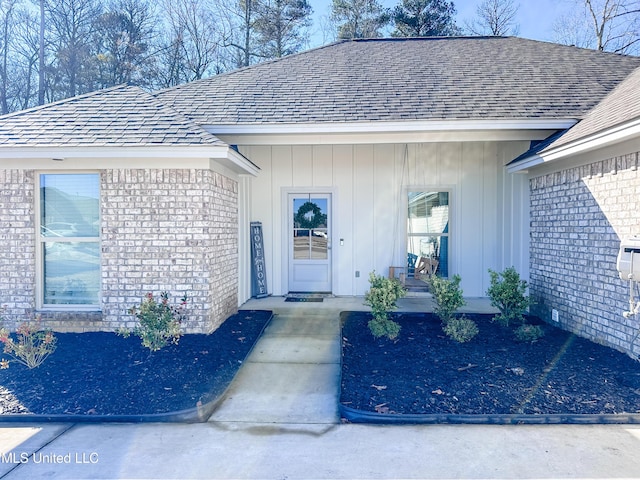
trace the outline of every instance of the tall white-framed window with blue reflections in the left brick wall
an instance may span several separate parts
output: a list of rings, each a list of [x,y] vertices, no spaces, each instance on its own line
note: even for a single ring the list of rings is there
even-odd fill
[[[98,174],[41,174],[39,305],[97,307],[100,294]]]

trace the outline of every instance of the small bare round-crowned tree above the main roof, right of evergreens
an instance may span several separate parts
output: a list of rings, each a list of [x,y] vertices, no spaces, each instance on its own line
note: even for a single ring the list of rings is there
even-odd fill
[[[466,23],[473,35],[517,35],[520,27],[515,23],[520,5],[513,0],[483,0],[476,7],[476,18]]]

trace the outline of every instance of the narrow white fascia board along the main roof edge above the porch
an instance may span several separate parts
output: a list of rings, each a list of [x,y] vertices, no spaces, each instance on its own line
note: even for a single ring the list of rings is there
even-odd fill
[[[309,135],[443,132],[476,130],[564,130],[576,119],[428,120],[407,122],[282,123],[203,125],[214,135]]]

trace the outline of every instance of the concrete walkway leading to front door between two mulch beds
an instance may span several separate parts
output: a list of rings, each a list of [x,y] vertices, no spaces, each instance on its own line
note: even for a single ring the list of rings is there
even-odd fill
[[[273,309],[271,324],[211,422],[232,422],[235,428],[337,423],[339,312],[297,305],[306,308]]]

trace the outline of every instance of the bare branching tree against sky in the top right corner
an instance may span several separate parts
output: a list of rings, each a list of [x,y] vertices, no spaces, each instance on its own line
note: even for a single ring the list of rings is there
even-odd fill
[[[554,24],[554,41],[615,53],[640,51],[640,1],[576,0],[576,6]]]

